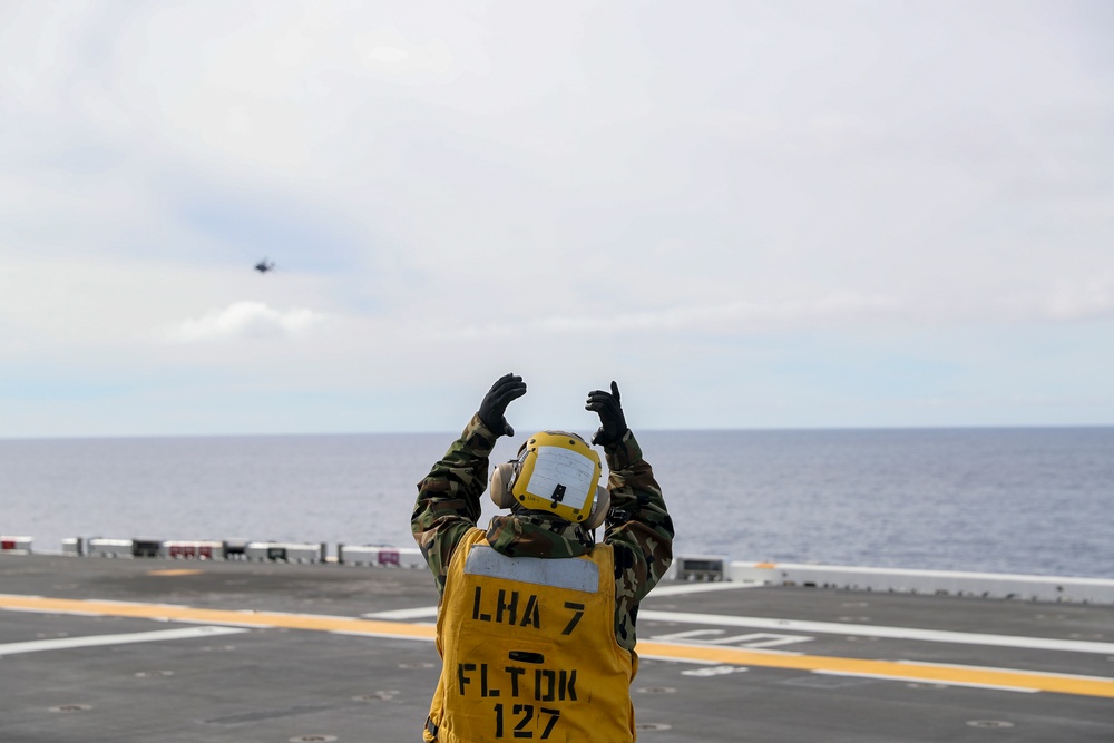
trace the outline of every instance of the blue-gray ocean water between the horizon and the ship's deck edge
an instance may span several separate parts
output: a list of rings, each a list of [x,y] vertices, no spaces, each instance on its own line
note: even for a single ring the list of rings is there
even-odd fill
[[[637,434],[677,554],[1114,578],[1114,428]],[[0,534],[411,546],[453,437],[0,440]]]

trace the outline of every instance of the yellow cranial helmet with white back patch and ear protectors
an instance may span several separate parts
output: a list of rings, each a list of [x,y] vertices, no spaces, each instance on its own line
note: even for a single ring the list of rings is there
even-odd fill
[[[599,454],[575,433],[540,431],[519,451],[518,460],[491,473],[491,500],[500,508],[549,512],[588,528],[607,514],[610,492],[599,487]]]

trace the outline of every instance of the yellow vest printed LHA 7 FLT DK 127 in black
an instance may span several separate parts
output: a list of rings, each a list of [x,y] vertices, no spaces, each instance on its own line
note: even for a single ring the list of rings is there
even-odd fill
[[[437,617],[442,666],[426,740],[634,741],[638,658],[615,639],[614,564],[609,545],[507,557],[470,531]]]

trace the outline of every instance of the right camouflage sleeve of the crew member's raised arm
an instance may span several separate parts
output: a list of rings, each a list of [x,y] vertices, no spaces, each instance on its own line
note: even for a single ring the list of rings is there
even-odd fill
[[[612,508],[604,541],[615,550],[616,633],[633,648],[638,603],[673,563],[673,519],[642,448],[628,430],[604,449],[610,469]]]

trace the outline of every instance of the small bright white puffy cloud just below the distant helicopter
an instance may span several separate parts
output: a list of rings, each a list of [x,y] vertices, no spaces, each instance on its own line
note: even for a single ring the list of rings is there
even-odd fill
[[[234,302],[219,312],[187,319],[170,332],[179,342],[261,340],[305,335],[323,324],[328,316],[312,310],[292,307],[280,311],[262,302]]]

